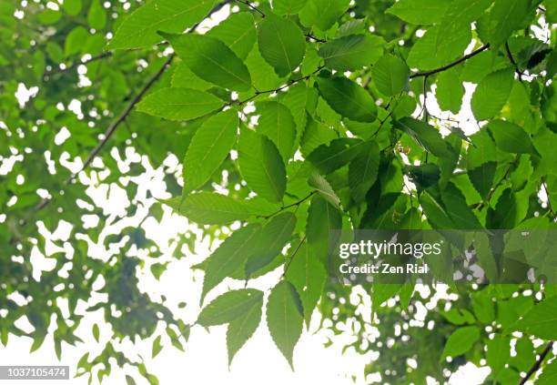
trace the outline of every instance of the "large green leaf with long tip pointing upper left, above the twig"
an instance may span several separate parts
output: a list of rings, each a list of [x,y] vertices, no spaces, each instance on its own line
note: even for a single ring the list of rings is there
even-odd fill
[[[203,80],[237,91],[251,88],[248,67],[218,38],[190,34],[161,35],[189,69]]]

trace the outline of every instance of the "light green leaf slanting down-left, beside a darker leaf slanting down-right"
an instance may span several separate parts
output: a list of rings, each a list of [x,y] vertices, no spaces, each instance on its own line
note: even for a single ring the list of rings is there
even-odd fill
[[[238,113],[229,109],[203,123],[191,139],[184,158],[184,190],[203,186],[236,143]]]

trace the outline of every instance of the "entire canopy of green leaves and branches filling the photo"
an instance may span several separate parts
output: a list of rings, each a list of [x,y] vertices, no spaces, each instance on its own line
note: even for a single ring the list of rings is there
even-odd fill
[[[207,30],[216,12],[228,17]],[[379,352],[359,375],[443,382],[471,362],[490,383],[539,369],[553,383],[552,285],[487,279],[433,299],[409,280],[354,299],[327,280],[335,229],[555,227],[552,23],[549,0],[0,2],[0,342],[26,336],[36,350],[52,330],[60,357],[99,312],[110,336],[77,374],[100,382],[129,364],[156,384],[119,342],[152,340],[156,356],[161,340],[182,350],[193,326],[227,324],[232,361],[265,317],[295,367],[317,309],[319,328],[353,326],[346,349]],[[195,267],[197,322],[138,287],[169,261],[126,219],[170,210],[192,225],[172,258],[195,248],[193,224],[222,241]],[[509,269],[496,251],[488,278]],[[37,274],[35,253],[54,268]],[[265,292],[206,303],[225,279],[278,269]]]

